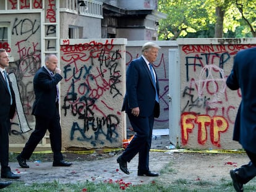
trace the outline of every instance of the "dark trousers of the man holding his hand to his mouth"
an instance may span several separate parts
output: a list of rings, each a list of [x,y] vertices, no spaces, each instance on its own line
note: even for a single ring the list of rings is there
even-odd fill
[[[35,150],[38,143],[45,136],[46,131],[49,131],[49,138],[51,141],[51,149],[53,150],[53,160],[62,161],[63,157],[61,154],[61,125],[59,123],[59,114],[52,119],[46,117],[35,116],[36,125],[35,130],[30,135],[25,147],[23,148],[20,156],[24,159],[30,159],[33,151]]]

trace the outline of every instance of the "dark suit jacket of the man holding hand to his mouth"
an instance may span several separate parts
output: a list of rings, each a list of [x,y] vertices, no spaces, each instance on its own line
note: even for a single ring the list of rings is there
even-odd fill
[[[58,73],[51,77],[45,67],[41,67],[36,73],[33,80],[35,91],[35,102],[33,104],[33,115],[46,118],[53,118],[56,114],[56,85],[62,77]]]

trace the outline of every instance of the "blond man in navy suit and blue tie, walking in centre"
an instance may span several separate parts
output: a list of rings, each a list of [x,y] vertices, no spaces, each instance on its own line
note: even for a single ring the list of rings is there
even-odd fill
[[[120,169],[126,174],[129,174],[127,162],[139,153],[138,175],[159,175],[151,172],[148,165],[154,117],[160,115],[159,84],[152,66],[158,56],[158,49],[160,47],[155,43],[145,43],[142,46],[142,56],[130,62],[127,68],[122,111],[126,111],[136,135],[117,158]]]

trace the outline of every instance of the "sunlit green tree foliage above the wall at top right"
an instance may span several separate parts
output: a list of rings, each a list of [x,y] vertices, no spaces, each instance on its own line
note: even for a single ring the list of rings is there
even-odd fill
[[[159,40],[256,37],[255,0],[158,0]]]

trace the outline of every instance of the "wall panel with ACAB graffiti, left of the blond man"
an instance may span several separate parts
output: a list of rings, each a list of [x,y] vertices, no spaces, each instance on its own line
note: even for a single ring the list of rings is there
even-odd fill
[[[122,145],[126,44],[126,39],[61,40],[64,148]]]

